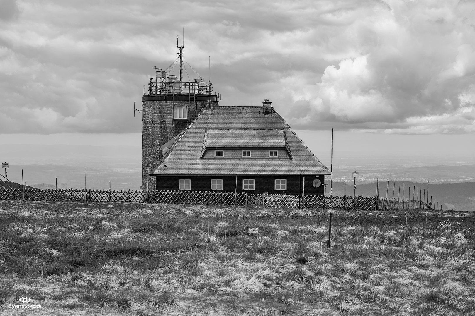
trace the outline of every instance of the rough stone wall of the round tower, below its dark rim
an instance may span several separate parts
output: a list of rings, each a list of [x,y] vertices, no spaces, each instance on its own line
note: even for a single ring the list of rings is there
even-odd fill
[[[215,106],[217,101],[213,102]],[[188,106],[188,119],[173,119],[173,106]],[[180,134],[196,117],[205,100],[145,100],[142,102],[142,189],[155,190],[155,177],[148,176],[162,158],[161,146]],[[148,179],[147,179],[148,178]]]

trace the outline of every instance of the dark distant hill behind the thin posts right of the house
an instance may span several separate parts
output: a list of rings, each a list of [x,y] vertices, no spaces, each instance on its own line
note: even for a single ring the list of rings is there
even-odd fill
[[[325,183],[330,183],[330,181],[325,180]],[[399,190],[400,184],[400,193]],[[406,199],[409,198],[409,188],[410,188],[410,199],[413,197],[414,187],[416,191],[421,189],[422,195],[424,195],[424,189],[427,191],[427,182],[410,182],[410,181],[380,181],[380,197],[386,197],[386,192],[388,192],[388,197],[393,196],[398,198],[399,194],[402,199],[403,194],[405,194]],[[330,192],[330,185],[327,185],[326,189],[327,194]],[[344,194],[344,185],[343,182],[333,181],[333,195]],[[346,184],[346,194],[353,195],[353,181],[347,182]],[[361,183],[359,184],[356,181],[356,195],[363,196],[375,196],[376,195],[376,182],[372,183]],[[414,195],[417,197],[417,192]],[[430,184],[429,182],[429,201],[432,196],[432,200],[436,199],[439,204],[442,204],[442,209],[455,209],[457,211],[475,211],[475,182],[458,182],[458,183],[442,183],[442,184]],[[417,198],[416,198],[417,199]],[[448,205],[446,205],[448,204]],[[452,207],[453,205],[453,207]]]

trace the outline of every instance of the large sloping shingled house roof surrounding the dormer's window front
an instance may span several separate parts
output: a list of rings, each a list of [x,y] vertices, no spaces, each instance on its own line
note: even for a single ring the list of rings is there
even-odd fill
[[[218,143],[218,130],[279,130],[284,133],[286,145],[293,159],[200,159],[203,146],[211,147],[209,140]],[[208,138],[210,130],[216,131]],[[238,132],[240,133],[240,132]],[[242,132],[243,137],[247,137]],[[264,132],[267,133],[267,132]],[[223,132],[221,135],[230,135]],[[257,134],[257,132],[256,132]],[[231,137],[231,136],[229,136]],[[225,137],[222,137],[225,139]],[[268,138],[268,137],[267,137]],[[278,137],[275,138],[278,140]],[[255,139],[241,138],[242,147],[250,147]],[[204,144],[205,143],[205,144]],[[215,144],[216,144],[215,143]],[[164,167],[166,165],[166,167]],[[192,175],[192,174],[330,174],[307,146],[298,138],[284,119],[274,110],[264,115],[262,107],[215,107],[199,113],[190,126],[162,158],[151,175]]]

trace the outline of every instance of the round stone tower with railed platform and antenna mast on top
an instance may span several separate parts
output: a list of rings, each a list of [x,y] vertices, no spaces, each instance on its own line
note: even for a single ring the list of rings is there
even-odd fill
[[[180,48],[180,78],[155,68],[156,78],[150,78],[148,91],[144,88],[142,98],[142,189],[155,190],[155,177],[148,175],[157,166],[165,147],[170,147],[173,138],[185,130],[206,106],[207,102],[218,106],[218,95],[213,95],[212,84],[202,78],[183,81],[182,55]],[[147,94],[148,92],[148,94]],[[166,143],[167,146],[164,146]],[[163,147],[163,148],[162,148]],[[148,179],[147,179],[148,178]]]

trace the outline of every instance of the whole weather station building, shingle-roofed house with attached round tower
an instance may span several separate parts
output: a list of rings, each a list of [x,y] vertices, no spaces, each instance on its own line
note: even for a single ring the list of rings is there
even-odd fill
[[[323,195],[330,171],[271,102],[219,105],[211,82],[184,81],[177,47],[179,77],[155,68],[144,88],[143,190]]]

